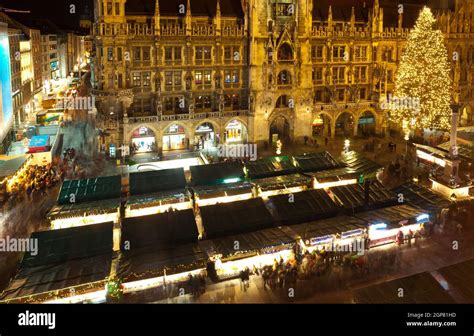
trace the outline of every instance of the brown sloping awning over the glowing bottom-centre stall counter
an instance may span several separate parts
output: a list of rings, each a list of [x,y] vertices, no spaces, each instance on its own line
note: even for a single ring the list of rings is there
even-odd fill
[[[288,227],[270,228],[250,233],[212,239],[214,251],[223,258],[245,256],[248,253],[265,252],[279,246],[295,243],[297,236]],[[235,249],[239,242],[239,249]]]

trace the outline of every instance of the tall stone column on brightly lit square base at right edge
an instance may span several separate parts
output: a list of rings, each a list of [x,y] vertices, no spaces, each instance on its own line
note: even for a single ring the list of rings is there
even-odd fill
[[[461,178],[459,174],[459,164],[461,160],[458,157],[457,146],[457,127],[459,122],[459,105],[452,106],[452,127],[450,136],[450,149],[445,160],[443,175],[431,176],[431,189],[445,198],[452,201],[460,201],[470,199],[470,189],[472,188],[472,181],[469,176]]]

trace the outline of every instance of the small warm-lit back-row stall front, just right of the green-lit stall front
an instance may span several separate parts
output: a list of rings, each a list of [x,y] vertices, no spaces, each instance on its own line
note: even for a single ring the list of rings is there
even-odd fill
[[[257,191],[256,194],[266,198],[307,190],[311,186],[311,177],[303,174],[291,174],[252,179],[252,184]]]

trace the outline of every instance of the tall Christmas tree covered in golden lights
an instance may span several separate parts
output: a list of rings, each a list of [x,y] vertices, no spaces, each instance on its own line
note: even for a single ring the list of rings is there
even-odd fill
[[[451,128],[452,81],[441,30],[427,7],[408,36],[398,68],[390,120],[405,131]]]

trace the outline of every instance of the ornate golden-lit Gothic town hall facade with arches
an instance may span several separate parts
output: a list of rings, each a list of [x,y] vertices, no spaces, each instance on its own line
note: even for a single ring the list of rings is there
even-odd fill
[[[113,141],[150,150],[384,134],[420,5],[391,1],[96,0],[93,87]],[[445,32],[465,122],[474,5],[427,0]],[[109,120],[116,129],[117,120]],[[147,138],[140,142],[140,138]],[[151,139],[151,140],[150,140]]]

